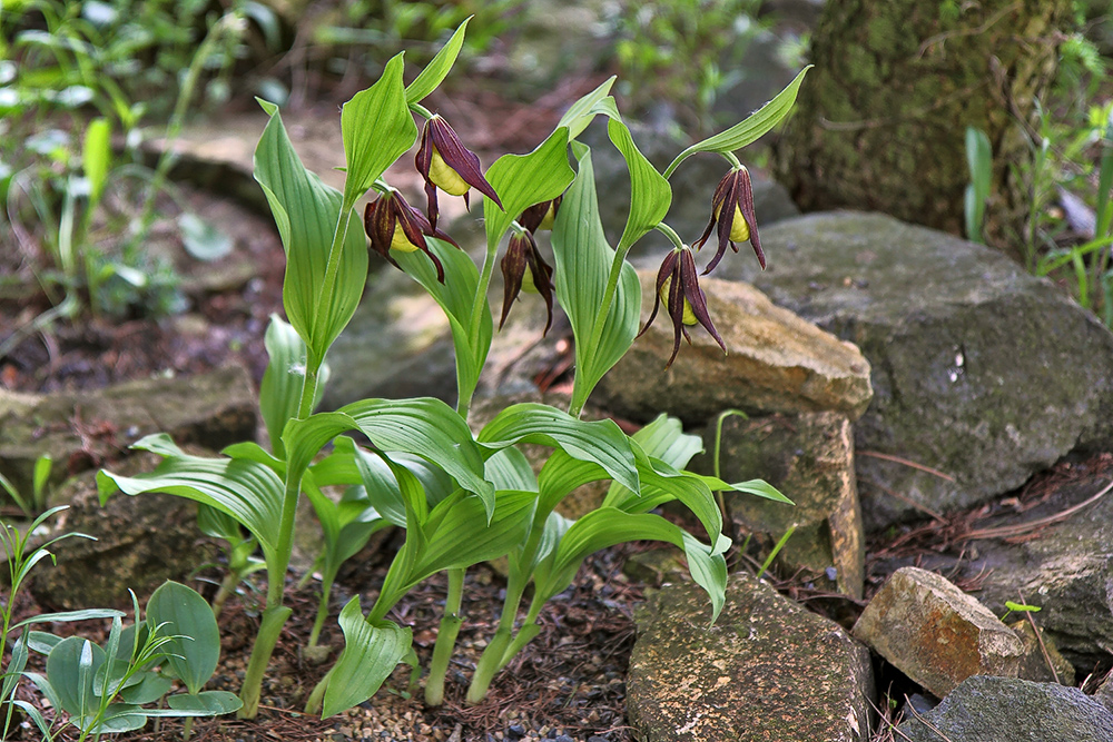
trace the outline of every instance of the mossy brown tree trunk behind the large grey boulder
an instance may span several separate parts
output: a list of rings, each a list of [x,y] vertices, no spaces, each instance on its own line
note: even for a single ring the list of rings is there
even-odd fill
[[[816,69],[775,151],[805,210],[856,208],[959,234],[965,130],[993,146],[991,241],[1018,253],[1037,101],[1073,0],[828,0]],[[947,9],[952,9],[948,12]]]

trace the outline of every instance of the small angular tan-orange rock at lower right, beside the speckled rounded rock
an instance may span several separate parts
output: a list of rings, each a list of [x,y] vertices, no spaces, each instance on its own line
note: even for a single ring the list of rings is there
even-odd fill
[[[940,699],[971,675],[1016,677],[1024,653],[1021,640],[988,609],[916,567],[893,573],[854,635]]]

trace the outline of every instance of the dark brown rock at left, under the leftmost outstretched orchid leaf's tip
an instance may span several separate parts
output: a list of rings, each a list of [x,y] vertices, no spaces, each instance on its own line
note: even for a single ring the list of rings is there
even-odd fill
[[[157,457],[130,456],[114,471],[134,475],[155,467]],[[96,477],[86,472],[60,488],[71,503],[55,523],[56,533],[83,533],[96,541],[66,538],[51,551],[56,566],[37,568],[31,593],[59,610],[130,606],[128,588],[149,592],[165,580],[181,580],[215,560],[218,550],[197,528],[197,505],[183,497],[117,493],[105,507]]]

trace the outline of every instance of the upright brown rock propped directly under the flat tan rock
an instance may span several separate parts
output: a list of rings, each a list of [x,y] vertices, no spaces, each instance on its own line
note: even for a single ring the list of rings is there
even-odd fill
[[[715,451],[716,426],[703,433],[705,448]],[[693,467],[711,473],[705,454]],[[727,482],[761,478],[780,489],[794,506],[737,494],[730,497],[733,520],[750,531],[779,537],[796,527],[778,556],[790,572],[830,583],[861,597],[865,541],[854,478],[854,437],[841,413],[800,413],[723,421],[720,472]],[[835,570],[835,581],[827,571]]]

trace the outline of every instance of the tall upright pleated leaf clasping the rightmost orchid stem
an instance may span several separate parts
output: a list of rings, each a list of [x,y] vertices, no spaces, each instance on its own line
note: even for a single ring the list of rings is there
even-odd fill
[[[594,338],[614,250],[607,244],[599,219],[591,151],[578,142],[572,150],[579,158],[580,171],[561,201],[552,245],[556,296],[575,337],[572,406],[582,408],[599,379],[626,354],[638,334],[641,285],[637,271],[623,264],[602,332]]]

